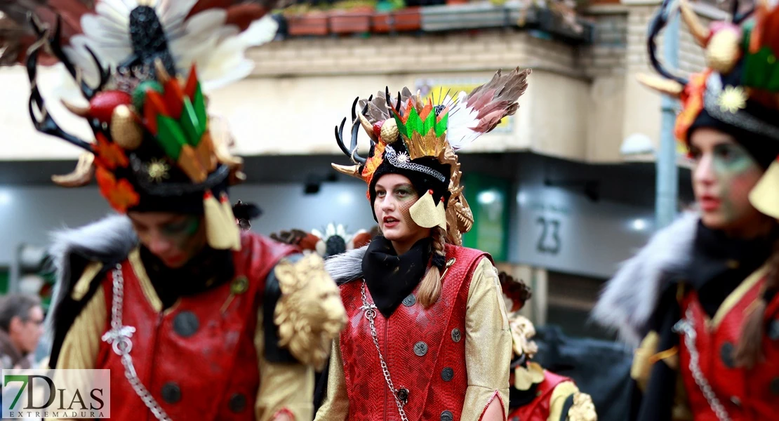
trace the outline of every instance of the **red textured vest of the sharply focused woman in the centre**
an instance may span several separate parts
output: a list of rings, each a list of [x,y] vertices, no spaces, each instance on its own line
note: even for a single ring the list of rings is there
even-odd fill
[[[482,251],[446,245],[446,260],[455,258],[442,279],[439,300],[425,309],[418,288],[390,318],[377,312],[375,328],[382,356],[396,389],[408,391],[408,419],[460,419],[467,388],[465,316],[471,277]],[[361,281],[341,286],[349,322],[340,335],[350,420],[400,419],[386,384],[370,325],[361,310]],[[368,295],[368,303],[373,299]]]

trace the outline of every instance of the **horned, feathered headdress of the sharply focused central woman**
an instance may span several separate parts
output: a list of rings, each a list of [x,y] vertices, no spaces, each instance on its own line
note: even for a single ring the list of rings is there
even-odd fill
[[[414,222],[425,228],[440,226],[450,243],[462,244],[462,233],[471,230],[474,221],[460,185],[456,152],[516,113],[516,100],[527,89],[529,74],[529,69],[519,68],[506,75],[498,71],[470,94],[461,92],[454,100],[447,93],[441,103],[423,100],[408,88],[394,100],[389,89],[375,98],[359,100],[360,112],[354,100],[348,147],[344,142],[346,118],[335,129],[338,146],[354,165],[333,164],[333,168],[368,183],[371,202],[379,177],[406,175],[421,195],[411,207]],[[371,139],[367,157],[358,155],[360,126]]]

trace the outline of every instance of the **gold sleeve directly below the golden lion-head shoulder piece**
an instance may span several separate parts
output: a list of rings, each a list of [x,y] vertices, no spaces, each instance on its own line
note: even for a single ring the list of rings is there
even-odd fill
[[[255,404],[256,419],[273,419],[287,412],[295,421],[314,416],[314,369],[300,363],[270,363],[265,359],[263,309],[257,312],[254,338],[259,362],[259,391]]]

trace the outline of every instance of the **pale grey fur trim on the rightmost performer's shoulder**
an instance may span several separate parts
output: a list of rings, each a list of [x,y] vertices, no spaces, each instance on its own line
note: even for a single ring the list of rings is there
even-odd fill
[[[615,329],[620,339],[638,346],[669,275],[689,261],[699,216],[689,212],[658,231],[606,283],[591,317]]]

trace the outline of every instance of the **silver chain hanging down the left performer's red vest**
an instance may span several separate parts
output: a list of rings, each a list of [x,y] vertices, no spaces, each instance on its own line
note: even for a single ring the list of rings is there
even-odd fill
[[[154,417],[160,421],[171,421],[171,417],[167,416],[165,410],[162,409],[160,404],[154,399],[154,397],[146,389],[146,386],[141,383],[136,373],[136,367],[132,364],[132,356],[130,356],[130,350],[132,349],[132,340],[130,337],[136,328],[132,326],[122,325],[122,305],[125,298],[125,278],[122,275],[122,265],[116,265],[116,268],[111,272],[113,276],[113,300],[111,301],[111,330],[105,332],[103,335],[103,341],[113,346],[116,355],[122,358],[122,365],[125,366],[125,377],[129,381],[132,389],[136,391],[136,395],[143,401]]]

